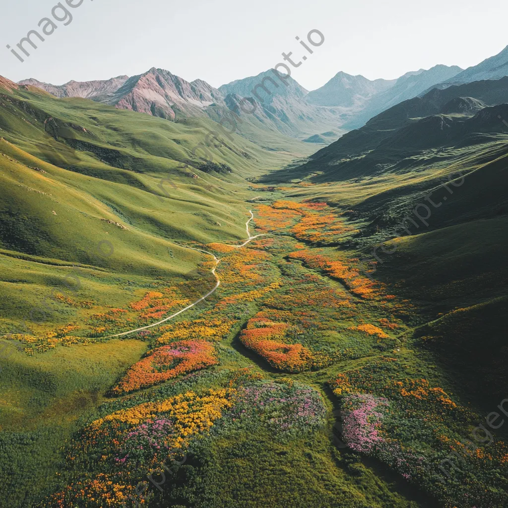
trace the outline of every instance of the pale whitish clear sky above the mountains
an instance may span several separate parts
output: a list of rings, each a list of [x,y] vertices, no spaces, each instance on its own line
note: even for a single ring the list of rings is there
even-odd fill
[[[292,77],[308,90],[337,72],[395,79],[438,63],[467,68],[500,52],[508,4],[501,0],[17,0],[2,6],[0,75],[53,84],[133,76],[152,67],[212,86],[255,76],[293,52]],[[81,2],[81,4],[80,4]],[[56,29],[42,18],[51,18]],[[68,23],[67,26],[64,23]],[[50,35],[42,35],[42,28]],[[37,49],[26,43],[37,29]],[[319,30],[320,46],[307,35]],[[310,54],[295,39],[307,44]],[[314,33],[314,42],[320,37]],[[6,46],[18,50],[20,62]],[[303,56],[308,58],[303,61]]]

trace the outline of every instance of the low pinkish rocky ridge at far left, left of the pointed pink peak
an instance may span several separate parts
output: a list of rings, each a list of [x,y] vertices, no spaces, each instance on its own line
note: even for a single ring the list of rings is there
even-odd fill
[[[92,99],[101,101],[108,94],[118,90],[120,86],[129,79],[129,76],[117,76],[104,81],[69,81],[65,85],[52,85],[43,83],[37,79],[30,78],[20,81],[20,85],[31,85],[42,88],[56,97],[82,97],[84,99]]]

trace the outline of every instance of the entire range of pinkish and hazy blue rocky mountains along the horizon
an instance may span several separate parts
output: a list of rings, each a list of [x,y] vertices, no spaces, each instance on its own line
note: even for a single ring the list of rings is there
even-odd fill
[[[250,141],[265,135],[282,135],[300,140],[321,137],[325,131],[339,136],[360,128],[375,115],[432,88],[447,88],[481,79],[508,75],[508,47],[478,66],[462,70],[437,65],[411,71],[395,80],[369,80],[361,75],[337,73],[321,88],[308,91],[289,77],[279,80],[266,71],[214,88],[201,79],[192,82],[163,69],[152,68],[137,76],[117,76],[104,81],[70,81],[52,85],[30,78],[19,84],[42,88],[56,97],[81,97],[140,113],[179,120],[208,116],[229,117],[233,110],[241,118],[236,125]],[[263,87],[261,86],[263,85]],[[257,97],[253,97],[254,95]],[[253,114],[245,113],[248,98]],[[317,136],[317,137],[315,137]],[[263,137],[263,136],[261,136]]]

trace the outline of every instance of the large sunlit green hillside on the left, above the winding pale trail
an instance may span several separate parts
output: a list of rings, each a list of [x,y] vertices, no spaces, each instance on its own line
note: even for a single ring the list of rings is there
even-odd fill
[[[40,91],[2,91],[0,256],[9,270],[1,283],[11,302],[4,332],[55,280],[62,285],[68,269],[59,264],[93,272],[80,296],[117,303],[125,296],[106,289],[112,274],[185,276],[203,256],[179,243],[243,238],[252,196],[245,179],[309,150],[292,141],[294,153],[267,151],[233,135],[234,142],[208,147],[213,164],[223,165],[212,165],[216,172],[192,154],[216,130],[211,120],[176,123]],[[161,186],[162,178],[169,180]],[[111,256],[100,256],[99,242],[103,253],[114,249]]]

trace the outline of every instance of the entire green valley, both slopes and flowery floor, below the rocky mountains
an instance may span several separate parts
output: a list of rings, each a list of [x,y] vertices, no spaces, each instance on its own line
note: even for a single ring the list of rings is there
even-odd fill
[[[235,135],[205,166],[209,119],[0,90],[0,332],[30,332],[1,340],[0,505],[135,506],[147,482],[153,507],[505,506],[507,428],[463,450],[506,396],[505,81],[406,101],[302,166],[310,143]],[[234,249],[249,209],[266,236]],[[213,287],[189,246],[218,290],[108,338]]]

